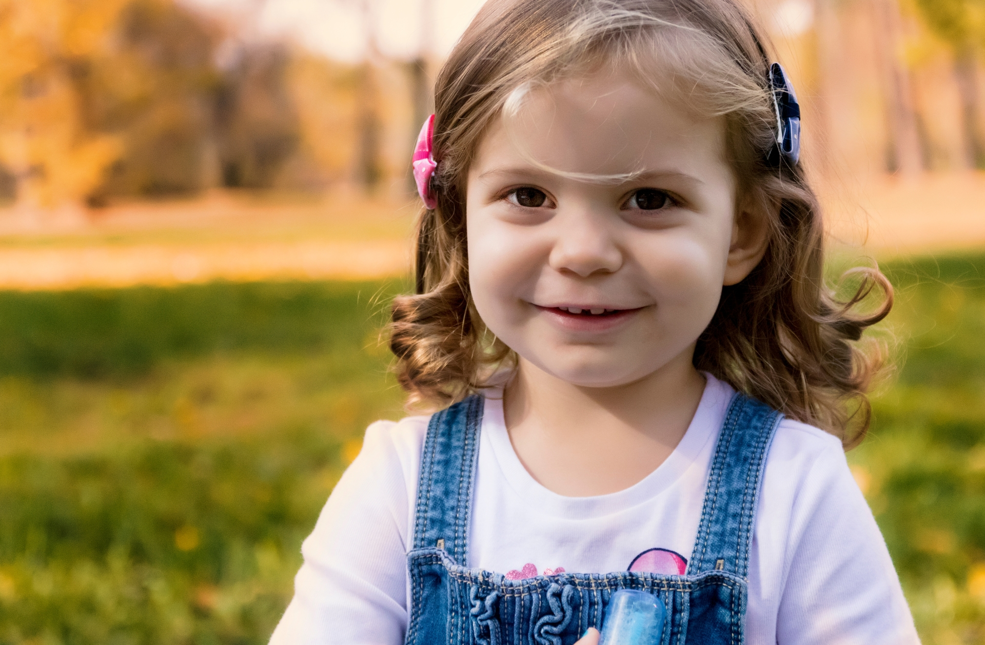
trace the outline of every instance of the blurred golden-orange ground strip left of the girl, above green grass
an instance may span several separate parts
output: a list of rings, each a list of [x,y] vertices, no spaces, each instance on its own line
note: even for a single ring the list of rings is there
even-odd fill
[[[90,214],[0,211],[0,289],[403,275],[414,208],[218,193]]]

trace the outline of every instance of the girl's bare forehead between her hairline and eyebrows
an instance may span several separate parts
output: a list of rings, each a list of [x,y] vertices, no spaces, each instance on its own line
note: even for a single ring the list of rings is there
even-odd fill
[[[493,122],[471,170],[528,163],[607,183],[648,171],[711,180],[731,176],[724,117],[699,116],[627,76],[560,81],[516,102]]]

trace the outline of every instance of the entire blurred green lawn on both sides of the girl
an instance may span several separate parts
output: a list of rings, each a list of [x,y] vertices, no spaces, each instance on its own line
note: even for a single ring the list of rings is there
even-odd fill
[[[985,256],[886,266],[905,359],[850,460],[924,642],[985,642]],[[382,284],[0,292],[0,643],[264,643],[401,394]]]

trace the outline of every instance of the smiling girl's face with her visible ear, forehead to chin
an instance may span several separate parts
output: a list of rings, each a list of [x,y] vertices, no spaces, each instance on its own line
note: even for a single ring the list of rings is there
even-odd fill
[[[723,118],[627,78],[527,97],[468,174],[469,280],[490,331],[521,365],[580,386],[692,369],[722,286],[764,247],[764,218],[736,213],[724,150]]]

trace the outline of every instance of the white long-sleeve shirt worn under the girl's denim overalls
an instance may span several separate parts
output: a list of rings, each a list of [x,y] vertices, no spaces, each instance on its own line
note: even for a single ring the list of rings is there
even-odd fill
[[[595,497],[538,484],[487,396],[468,566],[507,577],[557,571],[676,573],[690,557],[732,388],[707,375],[689,428],[641,482]],[[407,552],[427,417],[377,421],[302,547],[295,598],[272,645],[400,645],[411,598]],[[671,551],[671,552],[667,552]],[[550,571],[548,570],[550,569]],[[682,571],[683,572],[683,571]],[[751,645],[880,645],[919,640],[886,543],[840,441],[784,419],[769,451],[749,567]]]

